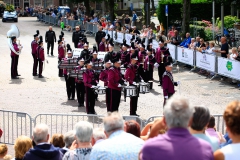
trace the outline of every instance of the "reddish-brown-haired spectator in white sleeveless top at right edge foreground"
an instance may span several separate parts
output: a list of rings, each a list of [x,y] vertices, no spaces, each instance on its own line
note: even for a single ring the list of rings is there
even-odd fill
[[[239,160],[240,157],[240,102],[233,101],[228,104],[223,118],[226,130],[232,139],[232,144],[224,146],[214,153],[214,160]]]

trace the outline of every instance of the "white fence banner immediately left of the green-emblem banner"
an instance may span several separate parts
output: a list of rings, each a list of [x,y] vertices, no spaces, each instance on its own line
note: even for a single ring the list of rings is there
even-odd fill
[[[211,54],[196,52],[196,66],[215,72],[216,57]]]

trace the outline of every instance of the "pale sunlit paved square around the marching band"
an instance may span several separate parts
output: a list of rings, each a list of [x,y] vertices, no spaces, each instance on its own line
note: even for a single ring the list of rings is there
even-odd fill
[[[45,35],[48,25],[37,22],[36,18],[19,18],[17,26],[20,30],[22,45],[24,46],[19,58],[18,71],[22,75],[18,80],[11,80],[10,77],[10,50],[7,45],[6,33],[12,23],[0,22],[0,108],[27,112],[32,117],[39,113],[69,113],[86,114],[85,108],[77,107],[77,100],[68,101],[65,80],[58,77],[57,68],[57,44],[55,44],[55,57],[47,57],[49,64],[45,65],[44,79],[32,77],[33,59],[31,55],[31,41],[38,29],[41,35]],[[53,27],[57,37],[60,34],[58,27]],[[65,39],[71,43],[71,32],[65,31]],[[90,46],[94,44],[94,38],[88,37]],[[73,44],[71,44],[73,47]],[[44,44],[46,50],[46,44]],[[236,86],[229,85],[230,80],[224,82],[206,79],[195,72],[180,65],[180,72],[176,72],[174,66],[174,79],[181,81],[177,87],[177,93],[190,99],[192,105],[204,105],[209,107],[212,114],[222,114],[225,106],[232,100],[239,100],[240,94]],[[157,72],[154,72],[154,79],[157,80]],[[105,96],[99,96],[96,103],[96,112],[99,115],[106,114]],[[142,119],[147,119],[153,115],[162,115],[163,94],[162,89],[154,82],[151,93],[141,94],[138,102],[137,113]],[[123,100],[120,104],[119,112],[129,115],[129,99]],[[1,125],[1,124],[0,124]],[[12,150],[11,150],[12,152]],[[13,153],[12,153],[13,155]]]

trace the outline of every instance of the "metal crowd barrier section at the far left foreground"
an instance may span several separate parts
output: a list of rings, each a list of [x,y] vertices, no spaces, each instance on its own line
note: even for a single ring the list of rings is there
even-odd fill
[[[0,110],[0,128],[3,130],[0,143],[14,144],[18,136],[32,137],[32,118],[24,112]]]

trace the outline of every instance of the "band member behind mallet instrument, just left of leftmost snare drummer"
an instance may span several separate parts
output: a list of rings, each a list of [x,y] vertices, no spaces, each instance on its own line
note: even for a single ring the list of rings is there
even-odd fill
[[[80,59],[78,61],[79,66],[75,68],[75,70],[84,70],[84,59]],[[77,99],[78,99],[78,107],[84,107],[84,94],[85,94],[85,86],[82,79],[78,79],[76,77],[76,91],[77,91]]]

